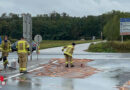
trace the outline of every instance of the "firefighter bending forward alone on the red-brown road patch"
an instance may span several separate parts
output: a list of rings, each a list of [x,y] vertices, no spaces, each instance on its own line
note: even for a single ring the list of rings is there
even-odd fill
[[[74,67],[73,65],[73,60],[72,60],[72,54],[73,54],[73,51],[74,51],[74,47],[75,47],[75,43],[72,43],[72,45],[68,45],[68,46],[65,46],[62,51],[64,51],[64,49],[66,49],[64,51],[64,56],[65,56],[65,60],[66,60],[66,67],[69,67],[69,64],[71,67]]]

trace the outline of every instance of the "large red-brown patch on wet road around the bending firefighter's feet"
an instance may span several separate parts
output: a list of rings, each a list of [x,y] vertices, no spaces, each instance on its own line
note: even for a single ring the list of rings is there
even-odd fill
[[[34,76],[50,76],[50,77],[66,77],[66,78],[86,78],[95,74],[96,68],[87,66],[88,62],[93,60],[90,59],[73,59],[75,67],[65,67],[65,59],[54,58],[48,64],[42,64],[40,70],[35,70],[30,74]]]

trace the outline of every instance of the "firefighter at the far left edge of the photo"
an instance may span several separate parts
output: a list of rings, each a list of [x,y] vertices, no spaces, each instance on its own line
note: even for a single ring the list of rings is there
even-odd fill
[[[1,48],[2,48],[2,56],[0,60],[3,59],[3,66],[4,66],[4,69],[6,69],[7,65],[9,64],[7,57],[8,57],[9,52],[11,52],[11,43],[8,40],[7,36],[4,37],[4,40],[2,41],[2,44],[1,44]]]

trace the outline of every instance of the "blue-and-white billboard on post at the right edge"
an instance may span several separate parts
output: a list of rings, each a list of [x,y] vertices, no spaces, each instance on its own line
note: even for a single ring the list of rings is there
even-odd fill
[[[130,35],[130,18],[120,18],[120,35],[122,42],[124,35]]]

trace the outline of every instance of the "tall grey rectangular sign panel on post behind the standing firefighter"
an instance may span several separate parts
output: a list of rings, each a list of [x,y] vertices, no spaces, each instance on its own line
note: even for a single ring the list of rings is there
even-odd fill
[[[30,60],[32,61],[32,18],[30,14],[23,14],[23,37],[30,44]]]

